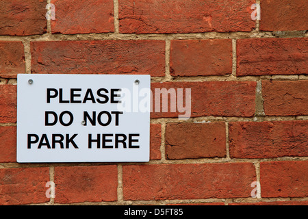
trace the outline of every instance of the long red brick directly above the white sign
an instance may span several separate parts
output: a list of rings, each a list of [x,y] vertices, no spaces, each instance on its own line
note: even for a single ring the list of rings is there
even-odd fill
[[[31,42],[32,73],[164,76],[162,40]]]

